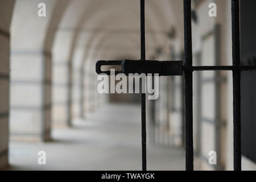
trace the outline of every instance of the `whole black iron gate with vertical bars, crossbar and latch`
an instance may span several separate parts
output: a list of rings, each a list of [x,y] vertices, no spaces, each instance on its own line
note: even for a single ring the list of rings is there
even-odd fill
[[[192,28],[191,0],[183,0],[184,6],[184,64],[183,61],[146,60],[145,56],[145,16],[144,0],[141,0],[141,60],[97,61],[96,72],[110,75],[110,71],[101,71],[102,65],[121,65],[125,73],[158,73],[159,76],[185,75],[185,168],[193,170],[193,72],[195,71],[232,71],[233,72],[233,139],[234,139],[234,170],[241,170],[241,71],[255,70],[256,66],[240,65],[240,3],[232,1],[232,57],[230,66],[192,65]],[[141,81],[142,84],[142,81]],[[142,170],[146,171],[146,96],[141,93],[142,123]]]

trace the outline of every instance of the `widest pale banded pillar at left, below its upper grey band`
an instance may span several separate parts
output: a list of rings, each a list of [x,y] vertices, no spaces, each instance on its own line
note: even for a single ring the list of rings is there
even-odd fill
[[[11,51],[11,139],[50,139],[51,53]]]

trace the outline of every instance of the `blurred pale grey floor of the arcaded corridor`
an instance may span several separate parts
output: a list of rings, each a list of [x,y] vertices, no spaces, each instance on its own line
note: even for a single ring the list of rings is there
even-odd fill
[[[52,130],[52,142],[10,142],[11,170],[141,170],[141,107],[106,105],[73,127]],[[46,165],[38,152],[46,151]],[[148,170],[183,170],[184,151],[147,144]]]

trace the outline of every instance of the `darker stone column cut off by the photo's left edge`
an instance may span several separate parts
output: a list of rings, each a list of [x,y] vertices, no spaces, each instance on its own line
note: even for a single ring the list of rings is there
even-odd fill
[[[0,169],[8,164],[10,22],[14,0],[0,2]]]

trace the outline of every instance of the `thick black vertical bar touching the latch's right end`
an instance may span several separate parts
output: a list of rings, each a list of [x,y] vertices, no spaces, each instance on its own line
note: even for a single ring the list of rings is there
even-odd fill
[[[192,67],[191,0],[184,0],[185,66]],[[186,170],[193,171],[193,82],[192,71],[185,71],[185,159]]]

